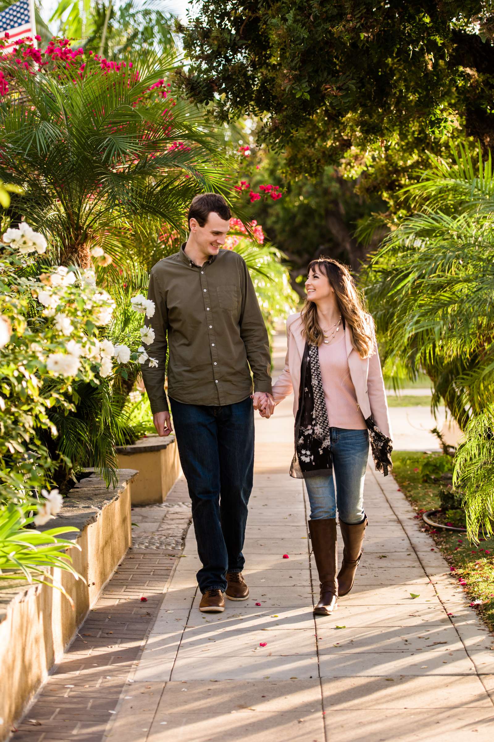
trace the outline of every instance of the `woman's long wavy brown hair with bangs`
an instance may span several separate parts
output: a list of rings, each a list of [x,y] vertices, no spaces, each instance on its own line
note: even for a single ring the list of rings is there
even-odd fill
[[[346,326],[352,329],[352,344],[361,358],[368,358],[374,352],[374,321],[363,305],[350,271],[346,266],[330,257],[312,260],[307,268],[307,275],[313,270],[325,275],[334,289],[336,301]],[[310,345],[321,345],[324,332],[318,323],[317,306],[309,298],[305,300],[301,312],[304,323],[303,335]]]

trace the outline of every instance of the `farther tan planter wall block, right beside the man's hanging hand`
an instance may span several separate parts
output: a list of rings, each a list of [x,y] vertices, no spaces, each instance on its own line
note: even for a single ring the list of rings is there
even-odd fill
[[[132,485],[133,505],[164,502],[180,474],[178,448],[173,434],[146,436],[130,446],[117,447],[119,466],[137,469]]]

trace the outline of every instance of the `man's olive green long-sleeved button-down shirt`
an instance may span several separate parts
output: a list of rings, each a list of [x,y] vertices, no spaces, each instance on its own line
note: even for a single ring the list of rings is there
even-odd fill
[[[222,406],[254,391],[271,393],[270,347],[247,266],[233,250],[220,250],[198,267],[180,252],[153,267],[146,319],[155,332],[146,347],[158,366],[142,366],[151,411],[168,410],[164,393],[167,347],[168,394],[185,404]]]

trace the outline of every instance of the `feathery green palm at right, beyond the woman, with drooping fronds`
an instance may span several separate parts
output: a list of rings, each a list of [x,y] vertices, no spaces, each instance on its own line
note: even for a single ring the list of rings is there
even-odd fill
[[[470,536],[494,514],[494,177],[480,148],[430,157],[405,189],[415,211],[384,239],[364,280],[387,361],[433,381],[466,440],[455,459]],[[478,482],[482,480],[482,487]]]

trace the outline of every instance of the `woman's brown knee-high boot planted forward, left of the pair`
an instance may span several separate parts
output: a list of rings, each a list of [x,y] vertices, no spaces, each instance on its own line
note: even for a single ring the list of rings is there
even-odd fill
[[[310,520],[309,533],[321,588],[319,602],[313,612],[318,616],[329,616],[337,607],[338,600],[336,518]]]

